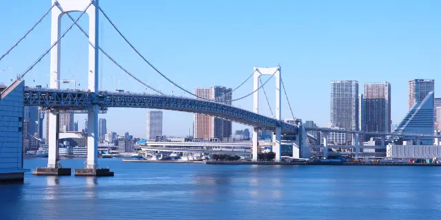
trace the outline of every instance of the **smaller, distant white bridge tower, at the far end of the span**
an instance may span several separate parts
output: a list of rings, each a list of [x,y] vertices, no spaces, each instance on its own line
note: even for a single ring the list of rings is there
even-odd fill
[[[254,113],[259,113],[258,107],[259,107],[259,94],[258,94],[258,82],[259,77],[262,75],[273,75],[276,77],[276,119],[281,120],[281,114],[282,109],[280,106],[280,84],[281,84],[281,68],[280,65],[277,67],[254,67]],[[254,128],[253,129],[253,160],[257,160],[257,153],[258,153],[258,129],[264,129],[264,128]],[[280,126],[276,127],[276,131],[273,133],[273,142],[275,142],[273,152],[276,153],[276,162],[280,162],[280,159],[282,158],[280,155],[280,141],[282,140],[282,128]]]

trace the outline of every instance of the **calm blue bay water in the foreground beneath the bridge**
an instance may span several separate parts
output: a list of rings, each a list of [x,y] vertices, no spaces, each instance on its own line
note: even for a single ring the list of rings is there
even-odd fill
[[[0,185],[0,219],[441,218],[440,167],[99,164],[115,176],[26,173],[24,184]]]

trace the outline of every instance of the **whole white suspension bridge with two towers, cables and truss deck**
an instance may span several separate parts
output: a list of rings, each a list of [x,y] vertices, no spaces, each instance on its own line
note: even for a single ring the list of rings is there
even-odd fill
[[[74,19],[70,12],[81,12],[79,17]],[[14,43],[10,49],[0,56],[0,61],[10,54],[14,48],[19,46],[19,44],[25,39],[34,28],[41,23],[41,21],[51,13],[51,45],[48,47],[39,58],[36,59],[30,67],[25,69],[25,71],[17,76],[15,80],[9,87],[4,89],[1,93],[1,97],[5,98],[10,95],[10,92],[17,89],[21,89],[23,92],[23,105],[28,106],[38,106],[42,109],[48,111],[49,115],[49,155],[48,155],[48,168],[51,169],[61,169],[59,164],[58,156],[58,138],[59,138],[59,113],[61,112],[74,112],[74,113],[87,113],[88,114],[88,156],[86,161],[85,169],[81,170],[82,173],[89,172],[96,173],[98,166],[98,113],[105,113],[107,109],[119,107],[119,108],[147,108],[147,109],[167,109],[173,111],[185,111],[190,113],[203,113],[205,115],[212,115],[217,118],[223,118],[232,122],[238,122],[241,124],[246,124],[254,127],[254,137],[257,137],[257,132],[259,130],[270,130],[274,131],[274,140],[276,141],[274,151],[276,152],[277,160],[280,160],[280,139],[282,133],[298,133],[298,126],[296,124],[289,124],[281,120],[281,87],[285,89],[283,85],[283,80],[281,77],[280,66],[274,68],[260,68],[254,67],[254,72],[247,78],[254,79],[254,91],[246,94],[245,96],[240,96],[233,100],[209,100],[207,98],[198,96],[191,91],[181,87],[178,83],[175,83],[171,78],[159,71],[157,67],[154,67],[152,63],[147,61],[147,58],[139,52],[139,50],[134,47],[132,43],[127,39],[127,37],[116,27],[112,22],[110,17],[105,13],[103,8],[99,7],[99,0],[52,0],[52,5],[43,14],[43,16],[35,23],[28,32],[24,34],[17,43]],[[102,47],[99,46],[99,14],[112,25],[114,30],[118,32],[121,38],[127,43],[127,45],[136,52],[136,54],[142,58],[142,60],[147,63],[157,74],[167,80],[172,85],[178,87],[185,91],[186,94],[192,96],[188,97],[178,97],[178,96],[167,96],[163,94],[158,89],[148,85],[143,80],[140,80],[138,76],[128,72],[116,59],[110,56],[109,53],[105,52]],[[89,30],[86,32],[78,21],[83,17],[84,14],[88,14],[89,17]],[[72,20],[69,27],[61,32],[61,17],[66,15]],[[60,89],[60,54],[61,54],[61,39],[70,31],[72,28],[79,28],[79,30],[85,35],[89,40],[89,70],[88,70],[88,89]],[[102,53],[105,57],[109,58],[116,67],[119,67],[125,74],[141,83],[146,88],[152,89],[156,94],[136,94],[136,93],[124,93],[124,92],[110,92],[110,91],[99,91],[99,53]],[[48,55],[50,54],[50,55]],[[23,78],[28,74],[35,65],[40,63],[40,61],[45,57],[50,56],[50,84],[48,88],[41,87],[28,87],[24,85]],[[263,82],[260,76],[270,75],[271,77]],[[266,97],[266,92],[263,86],[267,84],[271,78],[276,78],[276,117],[268,117],[261,115],[258,112],[258,91],[263,90]],[[247,81],[245,80],[238,87],[233,89],[230,93],[241,87]],[[260,83],[260,85],[259,85]],[[20,90],[20,92],[21,92]],[[285,95],[286,95],[285,91]],[[224,95],[225,96],[225,95]],[[231,105],[232,102],[242,100],[249,96],[254,96],[254,109],[253,111],[247,111],[238,107]],[[288,98],[287,98],[288,100]],[[268,99],[267,99],[268,102]],[[289,102],[289,101],[288,101]],[[268,102],[269,104],[269,102]],[[289,106],[291,109],[291,107]],[[270,107],[271,109],[271,107]],[[272,109],[271,109],[272,112]],[[291,111],[291,115],[292,114]],[[254,146],[257,146],[257,142],[254,142]],[[253,157],[257,159],[257,147],[253,148]],[[255,152],[254,152],[255,151]],[[86,170],[86,171],[85,171]],[[108,171],[108,170],[107,170]]]

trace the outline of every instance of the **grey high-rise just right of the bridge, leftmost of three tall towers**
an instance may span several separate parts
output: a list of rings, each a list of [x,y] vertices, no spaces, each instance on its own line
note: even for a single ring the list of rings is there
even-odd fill
[[[336,80],[331,82],[332,126],[356,131],[358,129],[358,104],[358,81]]]

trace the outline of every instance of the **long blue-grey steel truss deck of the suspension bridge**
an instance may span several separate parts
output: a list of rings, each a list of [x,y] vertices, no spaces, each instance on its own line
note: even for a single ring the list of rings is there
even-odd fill
[[[275,118],[270,118],[252,111],[233,107],[220,102],[212,102],[183,96],[166,96],[159,94],[134,94],[127,92],[99,91],[96,95],[91,91],[74,89],[48,89],[25,87],[24,104],[39,106],[45,109],[65,111],[86,111],[94,104],[100,111],[110,107],[145,108],[203,113],[223,118],[255,128],[275,130],[281,126],[283,133],[297,133],[298,126]]]

